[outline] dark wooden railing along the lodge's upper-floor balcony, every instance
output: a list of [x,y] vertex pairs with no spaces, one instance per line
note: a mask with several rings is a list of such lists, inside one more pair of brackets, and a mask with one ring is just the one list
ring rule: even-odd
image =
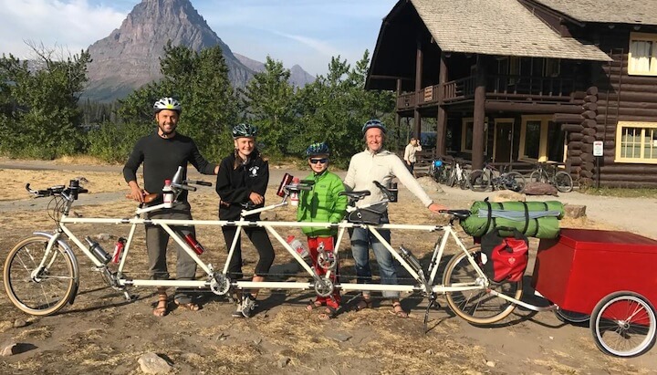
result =
[[[443,85],[443,103],[453,103],[474,98],[475,77],[454,79]],[[397,98],[397,109],[413,109],[427,104],[438,104],[440,85],[401,94]],[[487,76],[486,98],[489,99],[532,99],[565,101],[575,91],[572,78],[546,78],[529,76]]]

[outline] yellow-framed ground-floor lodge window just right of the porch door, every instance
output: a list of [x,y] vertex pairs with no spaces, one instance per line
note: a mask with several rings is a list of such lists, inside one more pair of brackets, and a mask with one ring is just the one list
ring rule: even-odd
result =
[[523,116],[520,128],[520,157],[529,161],[566,160],[566,133],[551,116]]

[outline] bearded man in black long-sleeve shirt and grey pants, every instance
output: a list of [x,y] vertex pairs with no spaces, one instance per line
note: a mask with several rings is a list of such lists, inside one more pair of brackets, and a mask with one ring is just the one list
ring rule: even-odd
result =
[[[182,108],[177,100],[160,99],[153,106],[158,130],[142,137],[135,145],[130,158],[123,168],[123,177],[130,185],[130,196],[135,201],[144,202],[148,193],[162,193],[164,180],[172,179],[178,167],[183,167],[183,176],[187,176],[187,164],[192,165],[203,174],[217,174],[219,166],[206,161],[198,151],[194,141],[176,132],[178,118]],[[137,182],[137,170],[143,163],[144,189]],[[162,203],[162,200],[154,203]],[[148,214],[149,219],[192,220],[190,204],[187,202],[187,192],[183,191],[171,209],[163,209]],[[172,227],[179,234],[194,235],[193,226]],[[158,225],[146,225],[146,248],[149,255],[149,270],[151,279],[166,280],[169,272],[166,265],[166,248],[169,234]],[[178,279],[192,280],[196,276],[196,263],[180,246],[178,249],[176,276]],[[192,297],[183,290],[176,290],[174,297],[179,307],[198,310],[192,302]],[[153,315],[162,317],[167,314],[166,289],[158,288],[158,305]]]

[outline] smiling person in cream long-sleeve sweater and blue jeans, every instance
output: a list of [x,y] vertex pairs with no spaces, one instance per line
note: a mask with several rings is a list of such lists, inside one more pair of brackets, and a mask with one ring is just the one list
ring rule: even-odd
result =
[[[440,210],[446,209],[443,205],[433,203],[432,199],[422,190],[422,186],[415,180],[411,172],[406,169],[403,161],[397,155],[383,150],[386,129],[380,120],[367,121],[362,131],[367,149],[351,157],[347,177],[344,181],[348,190],[370,191],[371,194],[360,200],[357,203],[358,206],[378,202],[383,198],[383,193],[373,181],[387,186],[388,182],[391,182],[393,178],[397,177],[433,213],[438,214]],[[381,222],[389,223],[387,211],[384,213]],[[380,230],[379,232],[390,243],[390,230]],[[364,228],[354,228],[351,234],[351,253],[356,263],[358,282],[369,282],[371,280],[370,245],[381,270],[381,284],[398,284],[397,270],[395,269],[392,255],[374,235]],[[398,317],[408,317],[408,313],[401,307],[399,292],[385,291],[383,292],[383,297],[391,298],[393,311]],[[362,293],[362,300],[356,308],[361,310],[370,306],[370,293],[364,291]]]

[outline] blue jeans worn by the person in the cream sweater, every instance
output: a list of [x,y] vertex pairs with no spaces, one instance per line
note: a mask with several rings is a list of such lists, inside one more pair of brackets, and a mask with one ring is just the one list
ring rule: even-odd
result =
[[[388,223],[388,215],[386,214],[381,223]],[[390,244],[391,233],[390,230],[379,230],[381,237],[383,237]],[[370,231],[363,228],[354,228],[351,233],[351,254],[353,255],[354,262],[356,263],[356,278],[358,283],[371,282],[371,269],[370,269],[370,245],[374,256],[376,257],[379,269],[381,272],[381,284],[397,285],[397,268],[394,265],[392,255],[385,248],[381,241]],[[363,295],[370,294],[363,291]],[[383,297],[386,298],[399,298],[399,292],[384,291]]]

